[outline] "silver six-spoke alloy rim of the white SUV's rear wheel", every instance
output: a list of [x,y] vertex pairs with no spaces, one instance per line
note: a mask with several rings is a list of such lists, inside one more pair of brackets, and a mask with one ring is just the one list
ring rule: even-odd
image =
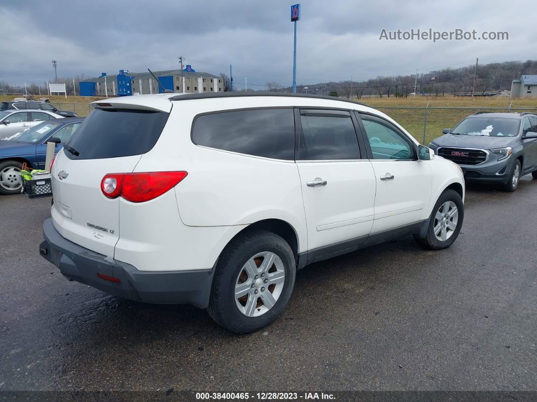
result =
[[264,251],[253,255],[235,282],[237,308],[248,317],[265,314],[278,301],[284,283],[284,263],[277,254]]

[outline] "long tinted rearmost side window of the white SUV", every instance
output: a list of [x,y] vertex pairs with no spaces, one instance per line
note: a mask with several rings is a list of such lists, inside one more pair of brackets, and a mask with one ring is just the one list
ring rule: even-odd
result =
[[198,145],[274,159],[294,159],[293,109],[256,109],[212,113],[194,122]]

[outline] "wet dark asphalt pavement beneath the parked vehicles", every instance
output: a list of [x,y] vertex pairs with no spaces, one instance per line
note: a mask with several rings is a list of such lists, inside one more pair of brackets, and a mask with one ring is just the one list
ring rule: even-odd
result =
[[0,196],[0,392],[537,390],[537,180],[465,207],[451,248],[308,266],[275,323],[235,335],[67,281],[38,253],[50,199]]

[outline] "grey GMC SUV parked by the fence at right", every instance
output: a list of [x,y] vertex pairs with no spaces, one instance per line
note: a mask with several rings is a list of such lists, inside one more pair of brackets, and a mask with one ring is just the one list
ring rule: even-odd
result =
[[537,179],[537,115],[479,112],[444,129],[429,147],[462,167],[466,181],[496,183],[515,191],[518,180]]

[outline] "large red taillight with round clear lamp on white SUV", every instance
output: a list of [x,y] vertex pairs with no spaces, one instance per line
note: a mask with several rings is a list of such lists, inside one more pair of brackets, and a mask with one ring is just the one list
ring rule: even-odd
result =
[[101,180],[101,191],[108,198],[122,196],[130,202],[153,200],[175,187],[188,172],[108,173]]

